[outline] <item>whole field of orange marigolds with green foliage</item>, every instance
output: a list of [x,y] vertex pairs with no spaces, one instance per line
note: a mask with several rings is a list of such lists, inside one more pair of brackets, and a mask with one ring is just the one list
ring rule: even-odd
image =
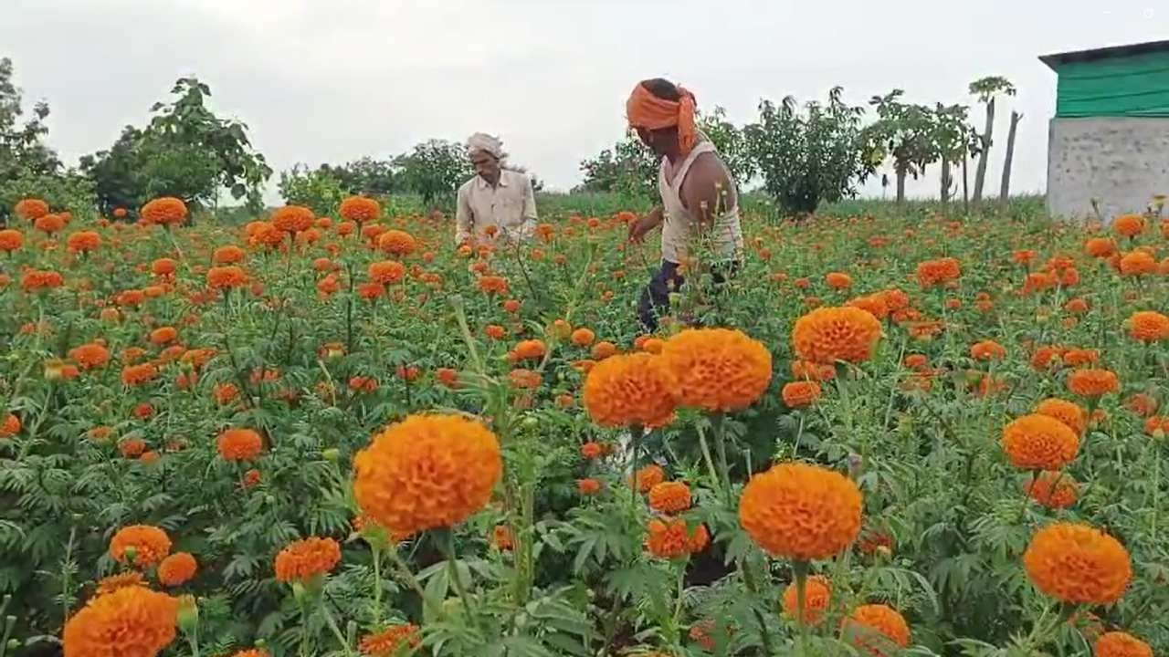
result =
[[116,214],[0,230],[0,657],[1169,651],[1160,206],[748,214],[655,336],[631,213]]

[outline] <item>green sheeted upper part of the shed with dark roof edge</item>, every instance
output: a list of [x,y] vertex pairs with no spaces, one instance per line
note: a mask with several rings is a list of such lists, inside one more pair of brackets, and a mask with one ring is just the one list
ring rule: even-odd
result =
[[1046,55],[1057,117],[1169,117],[1169,41]]

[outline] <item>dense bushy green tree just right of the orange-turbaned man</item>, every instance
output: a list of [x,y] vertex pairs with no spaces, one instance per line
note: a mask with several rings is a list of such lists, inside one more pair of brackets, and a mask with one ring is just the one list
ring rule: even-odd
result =
[[826,104],[809,102],[803,115],[790,96],[779,105],[762,101],[759,120],[742,130],[763,189],[787,212],[812,213],[821,201],[853,196],[876,170],[860,126],[864,109],[845,104],[842,94],[833,88]]

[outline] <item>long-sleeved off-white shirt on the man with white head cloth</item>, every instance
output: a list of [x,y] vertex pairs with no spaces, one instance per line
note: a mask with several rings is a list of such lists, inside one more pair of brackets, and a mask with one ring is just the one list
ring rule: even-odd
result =
[[494,226],[494,238],[527,240],[535,228],[535,194],[532,180],[517,171],[499,172],[499,185],[492,187],[476,175],[458,188],[455,213],[455,243],[468,240],[491,240],[487,227]]

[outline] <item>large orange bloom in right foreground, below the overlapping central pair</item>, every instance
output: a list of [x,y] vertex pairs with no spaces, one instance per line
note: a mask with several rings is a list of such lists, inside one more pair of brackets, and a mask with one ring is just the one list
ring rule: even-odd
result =
[[839,472],[781,463],[747,483],[739,523],[773,556],[826,559],[857,538],[860,503],[860,490]]

